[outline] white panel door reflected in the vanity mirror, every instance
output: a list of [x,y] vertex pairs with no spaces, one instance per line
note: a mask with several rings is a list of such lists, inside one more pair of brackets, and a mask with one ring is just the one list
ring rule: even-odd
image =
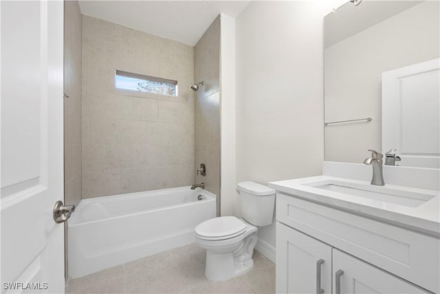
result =
[[382,151],[406,167],[440,168],[440,59],[382,74]]

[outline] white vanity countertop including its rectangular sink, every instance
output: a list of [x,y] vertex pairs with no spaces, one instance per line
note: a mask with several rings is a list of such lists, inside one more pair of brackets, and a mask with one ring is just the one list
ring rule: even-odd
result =
[[440,237],[438,190],[390,184],[377,186],[335,176],[281,180],[270,182],[269,187],[276,189],[276,193]]

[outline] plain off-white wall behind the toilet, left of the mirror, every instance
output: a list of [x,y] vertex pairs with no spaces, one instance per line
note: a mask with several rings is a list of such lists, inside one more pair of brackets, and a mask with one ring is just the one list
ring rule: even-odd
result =
[[[236,18],[237,182],[321,174],[322,22],[338,3],[252,1]],[[275,246],[274,224],[259,238]]]

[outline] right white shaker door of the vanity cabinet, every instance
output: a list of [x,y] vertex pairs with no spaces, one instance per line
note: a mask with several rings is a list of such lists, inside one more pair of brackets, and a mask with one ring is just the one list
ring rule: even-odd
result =
[[333,249],[333,293],[430,293],[382,269]]

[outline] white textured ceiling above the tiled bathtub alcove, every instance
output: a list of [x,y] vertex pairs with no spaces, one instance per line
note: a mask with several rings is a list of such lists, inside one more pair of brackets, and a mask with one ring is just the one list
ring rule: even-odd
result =
[[90,17],[195,45],[220,13],[236,17],[250,1],[83,1]]

